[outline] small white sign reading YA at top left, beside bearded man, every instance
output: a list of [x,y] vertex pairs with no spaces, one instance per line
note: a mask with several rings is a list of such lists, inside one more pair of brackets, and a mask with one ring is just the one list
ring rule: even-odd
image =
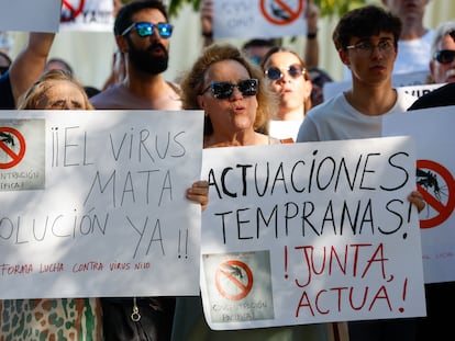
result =
[[62,31],[112,32],[113,23],[112,0],[63,0]]

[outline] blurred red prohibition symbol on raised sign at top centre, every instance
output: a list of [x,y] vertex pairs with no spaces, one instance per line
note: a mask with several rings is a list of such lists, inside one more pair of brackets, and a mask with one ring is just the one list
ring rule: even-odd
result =
[[260,0],[260,12],[264,18],[275,25],[288,25],[303,15],[304,0],[296,0],[297,9],[292,9],[285,0],[273,0],[267,8],[267,0]]

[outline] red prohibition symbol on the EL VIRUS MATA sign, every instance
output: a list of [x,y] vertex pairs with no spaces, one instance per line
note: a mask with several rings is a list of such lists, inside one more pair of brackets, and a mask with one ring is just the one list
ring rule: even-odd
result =
[[[15,151],[19,143],[19,152]],[[25,139],[20,132],[12,127],[0,127],[0,152],[7,154],[11,161],[0,163],[0,169],[16,166],[25,155]]]

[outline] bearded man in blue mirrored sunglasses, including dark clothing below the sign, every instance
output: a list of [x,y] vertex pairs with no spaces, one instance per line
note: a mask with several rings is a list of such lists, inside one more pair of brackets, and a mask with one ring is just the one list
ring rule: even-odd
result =
[[[164,79],[173,26],[159,0],[123,5],[114,23],[125,77],[90,102],[104,110],[180,110],[179,87]],[[106,340],[169,340],[175,297],[104,297]]]

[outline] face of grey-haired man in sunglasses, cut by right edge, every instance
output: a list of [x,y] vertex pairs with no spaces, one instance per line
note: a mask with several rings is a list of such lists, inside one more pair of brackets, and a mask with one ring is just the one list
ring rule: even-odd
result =
[[455,82],[455,42],[447,34],[437,44],[437,59],[430,61],[431,77],[436,83]]

